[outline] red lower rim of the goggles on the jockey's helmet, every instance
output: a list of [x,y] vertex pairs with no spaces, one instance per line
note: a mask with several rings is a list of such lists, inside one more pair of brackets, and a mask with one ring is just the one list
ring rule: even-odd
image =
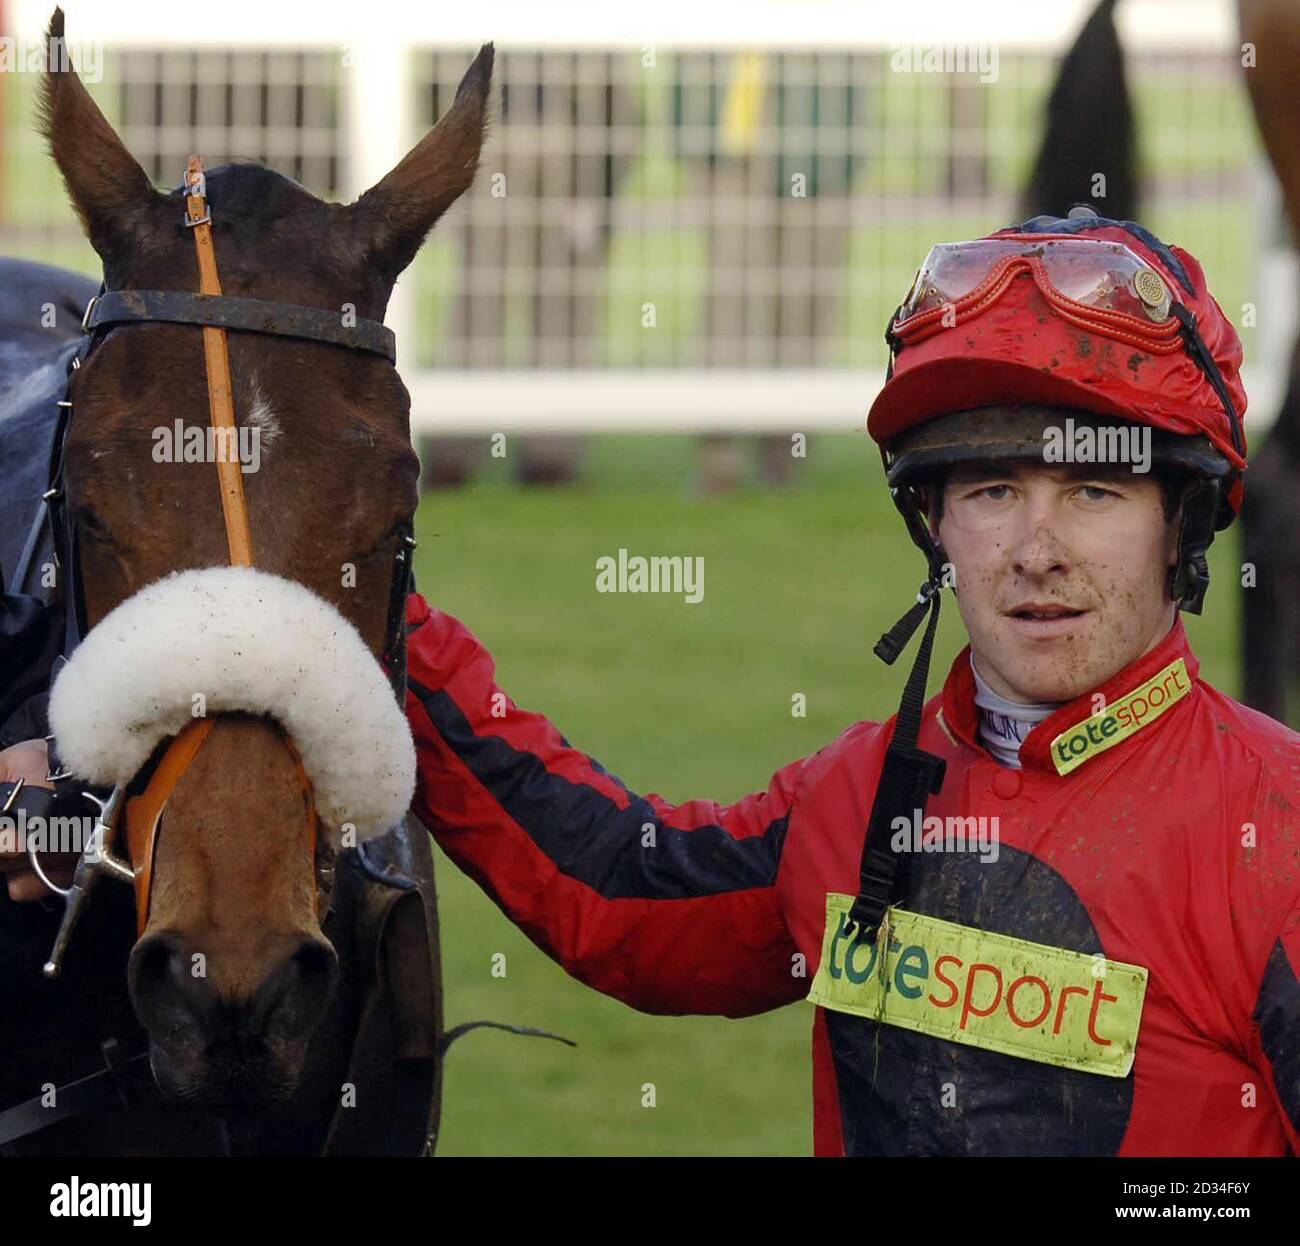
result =
[[[1170,315],[1160,324],[1144,324],[1136,316],[1127,312],[1110,311],[1105,307],[1093,307],[1089,303],[1080,303],[1078,299],[1062,294],[1048,274],[1041,258],[1036,255],[1008,255],[998,260],[988,276],[968,294],[959,299],[953,299],[940,307],[931,307],[928,311],[916,312],[906,320],[894,320],[889,326],[889,333],[900,343],[913,345],[923,342],[926,338],[950,329],[971,316],[978,316],[993,303],[996,303],[1017,277],[1028,273],[1043,297],[1052,304],[1056,313],[1080,329],[1095,333],[1105,333],[1139,350],[1150,351],[1156,355],[1173,354],[1182,350],[1182,325],[1178,317]],[[1173,295],[1171,295],[1173,298]],[[1173,298],[1176,302],[1176,298]]]

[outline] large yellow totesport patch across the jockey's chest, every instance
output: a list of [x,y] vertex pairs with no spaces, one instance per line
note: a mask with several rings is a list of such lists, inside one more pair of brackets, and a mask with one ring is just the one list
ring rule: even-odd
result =
[[1040,1064],[1128,1076],[1147,994],[1140,965],[897,908],[866,943],[850,934],[853,900],[826,897],[814,1004]]

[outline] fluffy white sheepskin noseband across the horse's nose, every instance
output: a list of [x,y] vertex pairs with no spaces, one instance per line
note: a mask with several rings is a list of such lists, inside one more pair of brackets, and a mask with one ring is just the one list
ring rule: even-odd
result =
[[281,723],[328,827],[367,839],[406,815],[415,745],[374,656],[324,598],[252,567],[179,571],[127,597],[58,672],[49,727],[74,774],[129,783],[198,693],[208,714]]

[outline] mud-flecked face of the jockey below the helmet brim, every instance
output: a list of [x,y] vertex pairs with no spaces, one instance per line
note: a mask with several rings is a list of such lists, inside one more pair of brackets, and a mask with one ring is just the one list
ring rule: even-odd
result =
[[1067,701],[1174,623],[1178,523],[1127,468],[987,464],[944,485],[942,541],[980,674],[1013,701]]

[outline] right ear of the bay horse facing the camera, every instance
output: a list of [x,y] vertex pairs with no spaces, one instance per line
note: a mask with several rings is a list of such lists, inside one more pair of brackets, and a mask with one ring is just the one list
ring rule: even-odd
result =
[[493,46],[485,43],[438,124],[347,208],[354,241],[393,280],[474,179],[488,125],[491,65]]

